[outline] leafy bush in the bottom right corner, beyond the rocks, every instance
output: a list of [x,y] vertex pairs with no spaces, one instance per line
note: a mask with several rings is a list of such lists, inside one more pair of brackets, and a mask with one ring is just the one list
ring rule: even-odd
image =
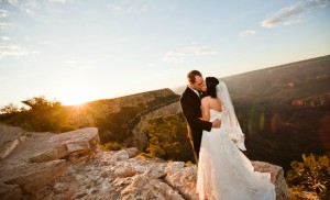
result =
[[323,156],[302,154],[302,162],[292,162],[292,170],[287,173],[289,187],[298,187],[327,196],[330,189],[329,153]]

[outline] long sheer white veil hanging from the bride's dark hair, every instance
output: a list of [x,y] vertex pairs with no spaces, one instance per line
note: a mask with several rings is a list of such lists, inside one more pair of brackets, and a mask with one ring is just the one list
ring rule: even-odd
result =
[[239,120],[237,118],[230,95],[223,81],[217,86],[217,97],[222,101],[222,120],[221,129],[226,129],[229,137],[242,151],[246,151],[244,145],[245,135],[242,132]]

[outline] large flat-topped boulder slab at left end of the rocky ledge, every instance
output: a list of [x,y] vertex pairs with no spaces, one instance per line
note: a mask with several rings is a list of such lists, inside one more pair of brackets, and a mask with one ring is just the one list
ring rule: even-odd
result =
[[[9,134],[10,127],[4,129],[1,136]],[[72,163],[95,153],[99,143],[96,127],[63,134],[26,135],[30,138],[16,145],[10,155],[0,160],[0,185],[3,186],[0,199],[37,197],[38,189],[58,178]]]

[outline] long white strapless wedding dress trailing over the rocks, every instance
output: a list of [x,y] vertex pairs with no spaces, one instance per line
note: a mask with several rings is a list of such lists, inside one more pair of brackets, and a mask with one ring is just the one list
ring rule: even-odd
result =
[[[210,121],[222,112],[210,110]],[[249,158],[230,138],[228,129],[204,131],[197,176],[200,200],[274,200],[271,174],[257,173]]]

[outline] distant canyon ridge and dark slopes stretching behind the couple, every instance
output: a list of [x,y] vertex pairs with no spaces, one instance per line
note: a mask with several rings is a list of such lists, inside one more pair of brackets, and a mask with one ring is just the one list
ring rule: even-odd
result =
[[[301,154],[330,151],[329,55],[219,79],[231,93],[250,159],[276,164],[287,170],[290,162],[300,159]],[[117,122],[117,131],[101,132],[101,142],[108,142],[109,135],[124,134],[128,146],[141,149],[145,137],[141,129],[146,119],[182,114],[179,97],[185,88],[67,107],[70,123],[77,127],[96,126],[99,120],[118,114],[124,122]]]

